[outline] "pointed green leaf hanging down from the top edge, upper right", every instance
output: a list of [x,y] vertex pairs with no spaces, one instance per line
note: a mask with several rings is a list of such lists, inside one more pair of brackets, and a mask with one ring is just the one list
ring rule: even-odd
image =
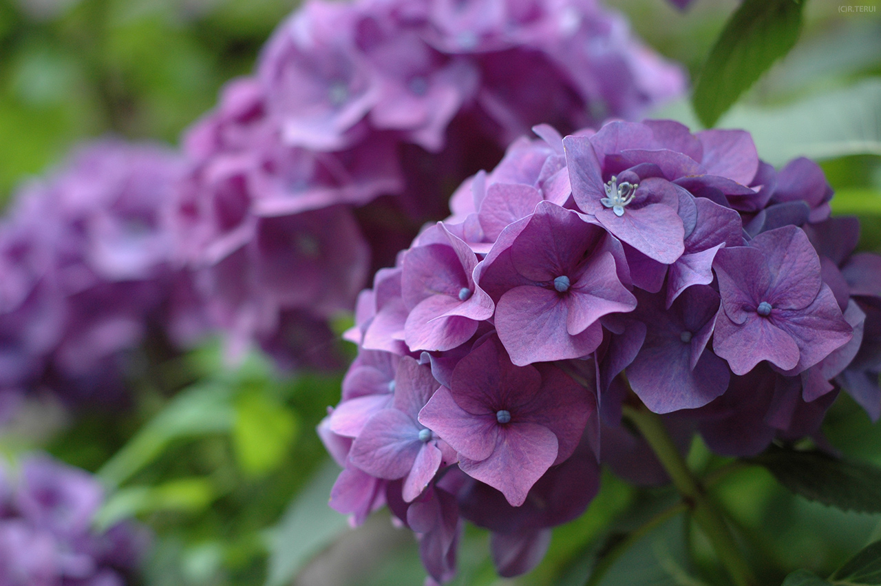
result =
[[771,64],[796,44],[802,27],[799,0],[744,0],[731,16],[694,88],[692,103],[711,127]]

